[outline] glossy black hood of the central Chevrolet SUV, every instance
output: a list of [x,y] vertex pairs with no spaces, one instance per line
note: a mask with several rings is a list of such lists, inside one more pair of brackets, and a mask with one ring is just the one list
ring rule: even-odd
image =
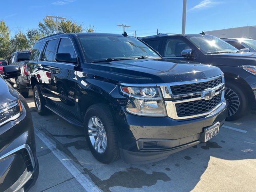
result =
[[[205,79],[222,74],[214,66],[163,59],[134,59],[92,64],[95,70],[105,71],[105,78],[123,83],[169,83]],[[106,73],[107,72],[107,73]]]

